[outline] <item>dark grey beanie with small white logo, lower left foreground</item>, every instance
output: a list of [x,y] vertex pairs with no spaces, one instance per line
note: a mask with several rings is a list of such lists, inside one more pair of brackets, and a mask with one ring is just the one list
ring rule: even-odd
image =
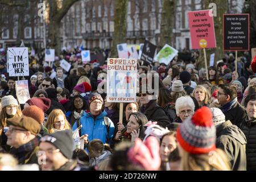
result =
[[67,158],[72,159],[73,156],[73,137],[71,130],[57,131],[47,134],[40,139],[40,142],[49,142]]

